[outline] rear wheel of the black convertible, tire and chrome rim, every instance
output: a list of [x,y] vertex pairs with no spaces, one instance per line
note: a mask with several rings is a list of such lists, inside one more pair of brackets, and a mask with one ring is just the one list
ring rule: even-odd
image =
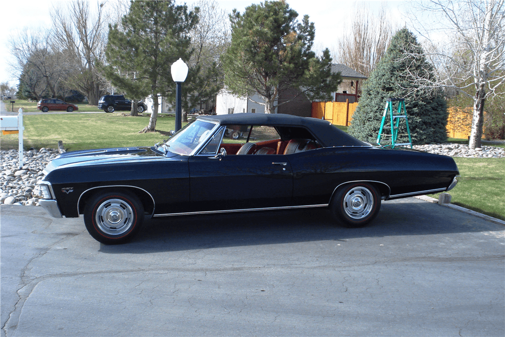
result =
[[367,182],[339,187],[330,204],[337,221],[346,227],[363,227],[379,213],[381,198],[377,188]]

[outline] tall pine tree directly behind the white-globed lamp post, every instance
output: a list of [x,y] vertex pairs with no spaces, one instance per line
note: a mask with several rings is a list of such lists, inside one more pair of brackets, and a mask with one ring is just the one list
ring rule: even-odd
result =
[[191,30],[198,22],[198,8],[169,1],[134,1],[120,25],[109,26],[109,40],[102,66],[105,77],[133,100],[153,98],[153,113],[143,132],[155,131],[158,98],[175,102],[171,66],[179,58],[188,64],[182,85],[184,109],[212,98],[222,87],[216,63],[203,69],[192,62]]

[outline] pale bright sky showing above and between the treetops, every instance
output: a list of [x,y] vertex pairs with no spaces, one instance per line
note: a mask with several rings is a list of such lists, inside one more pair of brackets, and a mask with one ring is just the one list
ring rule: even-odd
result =
[[[51,27],[51,10],[55,5],[67,0],[18,0],[8,1],[2,4],[2,22],[0,22],[0,82],[9,81],[11,85],[17,84],[17,73],[9,65],[13,58],[9,52],[9,40],[23,29],[40,29]],[[95,3],[95,0],[89,0]],[[219,7],[229,13],[237,9],[243,13],[244,9],[251,4],[258,4],[260,0],[216,0]],[[109,0],[113,5],[114,0]],[[380,2],[364,1],[372,11],[378,10]],[[178,1],[177,3],[183,3]],[[193,0],[186,0],[186,4],[192,5]],[[303,15],[309,15],[310,21],[316,26],[314,45],[323,49],[338,44],[341,37],[352,20],[352,10],[356,1],[340,0],[287,0],[289,6],[294,9],[300,19]],[[387,1],[386,5],[391,11],[391,16],[400,27],[406,24],[405,12],[408,10],[408,1]]]

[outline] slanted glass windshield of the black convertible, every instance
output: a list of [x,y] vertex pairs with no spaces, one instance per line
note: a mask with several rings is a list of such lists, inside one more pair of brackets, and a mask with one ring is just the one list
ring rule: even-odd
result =
[[202,120],[195,120],[186,124],[182,129],[174,134],[165,147],[168,151],[178,155],[189,156],[199,143],[205,141],[212,133],[212,129],[217,124]]

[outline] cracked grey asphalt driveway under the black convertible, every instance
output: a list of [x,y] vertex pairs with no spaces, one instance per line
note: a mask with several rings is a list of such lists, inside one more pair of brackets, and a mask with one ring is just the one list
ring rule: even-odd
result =
[[505,228],[415,198],[358,229],[320,210],[146,220],[121,246],[0,214],[0,337],[505,334]]

